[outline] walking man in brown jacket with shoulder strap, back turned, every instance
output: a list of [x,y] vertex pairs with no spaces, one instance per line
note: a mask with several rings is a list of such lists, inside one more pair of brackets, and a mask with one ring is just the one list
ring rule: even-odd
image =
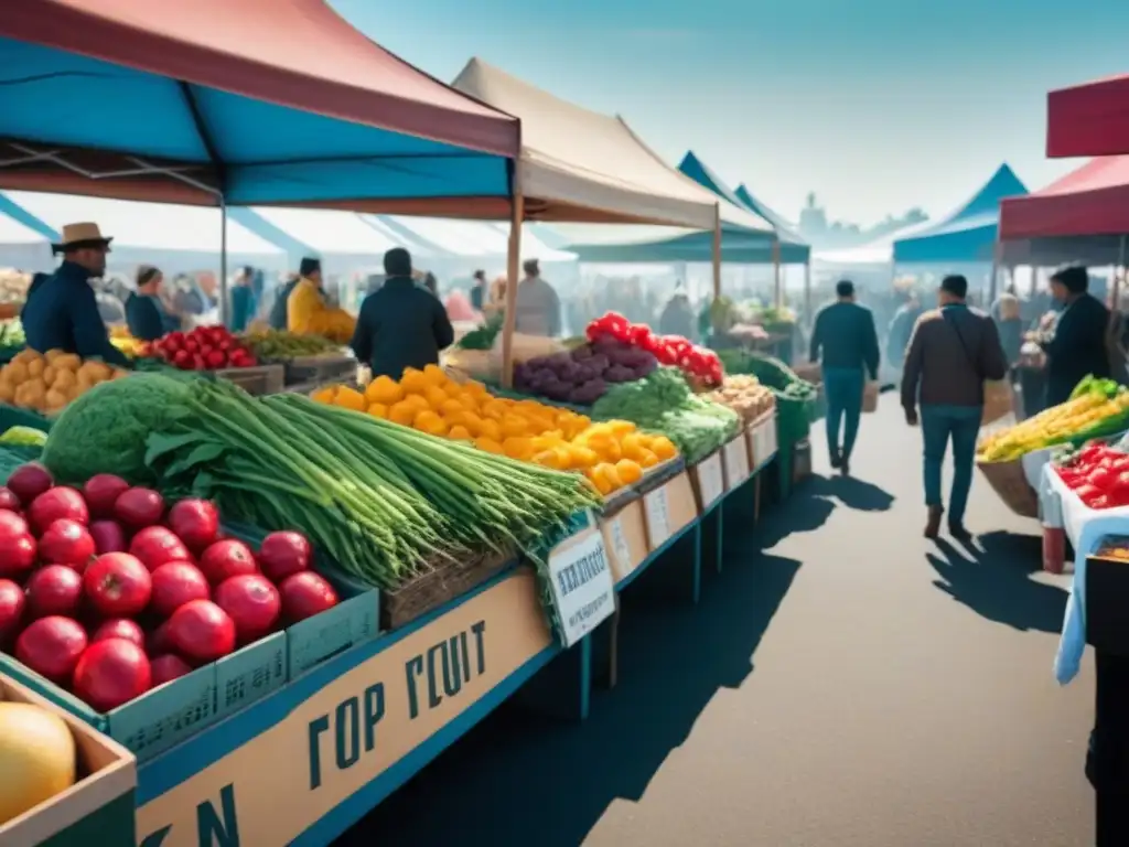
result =
[[[991,317],[965,303],[969,281],[961,276],[940,282],[940,307],[918,318],[902,370],[905,422],[921,424],[924,444],[925,535],[935,539],[945,513],[940,468],[953,442],[953,488],[948,496],[948,531],[965,540],[964,509],[972,488],[977,436],[983,414],[984,381],[1003,379],[1007,359]],[[920,407],[920,416],[918,408]]]

